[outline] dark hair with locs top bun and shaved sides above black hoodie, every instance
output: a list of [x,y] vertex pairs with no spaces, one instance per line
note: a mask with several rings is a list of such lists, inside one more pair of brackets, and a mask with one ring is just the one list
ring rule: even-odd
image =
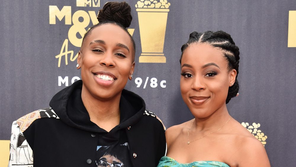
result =
[[133,43],[133,51],[134,54],[136,53],[136,44],[133,40],[133,37],[131,34],[129,34],[127,28],[131,25],[131,20],[133,19],[131,16],[131,6],[123,2],[107,2],[103,9],[99,11],[98,17],[97,17],[99,23],[92,26],[89,31],[87,31],[84,34],[84,37],[82,39],[82,43],[84,39],[91,34],[91,31],[101,25],[104,24],[114,24],[119,27],[121,27],[123,30],[125,30],[128,35],[131,38],[131,42]]

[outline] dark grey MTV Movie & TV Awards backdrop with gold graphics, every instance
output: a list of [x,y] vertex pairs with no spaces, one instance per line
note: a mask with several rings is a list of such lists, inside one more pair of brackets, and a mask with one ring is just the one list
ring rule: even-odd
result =
[[[55,93],[81,78],[82,36],[106,2],[1,1],[1,165],[8,163],[12,122],[48,107]],[[192,119],[180,93],[181,46],[193,31],[226,31],[241,53],[240,95],[227,104],[229,113],[265,145],[271,166],[295,166],[296,1],[126,2],[136,42],[126,89],[143,97],[167,128]],[[11,149],[24,154],[25,145],[18,145]]]

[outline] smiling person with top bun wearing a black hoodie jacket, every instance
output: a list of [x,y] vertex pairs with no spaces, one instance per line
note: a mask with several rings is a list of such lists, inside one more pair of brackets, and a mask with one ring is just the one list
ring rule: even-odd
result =
[[165,155],[163,124],[124,89],[135,67],[131,7],[108,2],[98,20],[78,53],[81,80],[13,123],[9,166],[151,167]]

